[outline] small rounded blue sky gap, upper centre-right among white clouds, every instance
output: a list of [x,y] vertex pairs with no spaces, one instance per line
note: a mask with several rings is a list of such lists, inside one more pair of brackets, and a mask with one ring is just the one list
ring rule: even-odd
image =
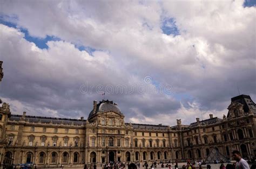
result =
[[161,30],[167,35],[173,34],[174,37],[179,35],[179,30],[174,18],[165,18],[161,26]]

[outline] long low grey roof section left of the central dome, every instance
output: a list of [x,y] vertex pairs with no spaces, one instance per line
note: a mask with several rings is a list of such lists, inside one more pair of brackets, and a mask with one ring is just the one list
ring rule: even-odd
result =
[[[11,115],[10,121],[21,121],[22,115]],[[25,116],[24,120],[30,123],[52,123],[52,124],[66,124],[66,125],[83,125],[86,120],[72,119],[72,118],[55,118],[55,117],[42,117],[42,116]]]

